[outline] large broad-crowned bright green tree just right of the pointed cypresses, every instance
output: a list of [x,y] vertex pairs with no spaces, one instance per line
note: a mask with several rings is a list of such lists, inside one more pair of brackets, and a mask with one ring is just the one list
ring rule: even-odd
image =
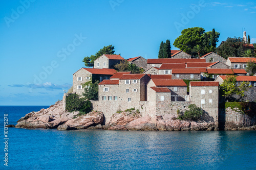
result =
[[201,45],[205,30],[200,27],[187,28],[182,30],[181,35],[175,39],[174,46],[191,54],[194,46]]

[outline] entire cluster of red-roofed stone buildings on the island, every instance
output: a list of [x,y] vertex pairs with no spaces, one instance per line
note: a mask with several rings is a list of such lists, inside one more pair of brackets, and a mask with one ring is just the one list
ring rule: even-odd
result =
[[[190,104],[201,107],[218,121],[219,83],[227,76],[236,75],[238,81],[249,81],[256,88],[256,77],[247,76],[245,71],[246,63],[256,62],[256,58],[226,60],[211,52],[196,59],[177,51],[168,59],[127,59],[143,67],[144,74],[113,69],[123,60],[120,55],[102,55],[94,61],[94,68],[80,68],[73,74],[73,93],[82,94],[82,84],[87,81],[100,81],[99,99],[92,103],[94,110],[104,113],[106,122],[113,113],[129,108],[140,111],[142,116],[177,117],[177,110],[185,112]],[[190,80],[189,84],[184,80]]]

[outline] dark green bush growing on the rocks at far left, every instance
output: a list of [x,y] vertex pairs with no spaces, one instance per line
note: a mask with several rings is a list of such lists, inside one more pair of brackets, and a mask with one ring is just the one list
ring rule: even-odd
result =
[[78,94],[69,94],[66,97],[66,110],[68,112],[79,111],[81,114],[89,113],[92,110],[92,103]]

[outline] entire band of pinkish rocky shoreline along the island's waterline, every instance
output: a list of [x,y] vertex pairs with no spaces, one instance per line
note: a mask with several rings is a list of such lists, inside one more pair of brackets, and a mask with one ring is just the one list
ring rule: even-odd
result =
[[[141,117],[136,110],[115,113],[108,124],[104,124],[102,112],[92,111],[86,115],[79,112],[65,112],[62,101],[56,102],[47,109],[30,112],[17,121],[15,128],[26,129],[103,129],[103,130],[129,130],[129,131],[217,131],[218,123],[214,122],[189,122],[177,119],[171,114],[157,116],[156,118]],[[256,130],[256,126],[243,127],[227,125],[225,130]]]

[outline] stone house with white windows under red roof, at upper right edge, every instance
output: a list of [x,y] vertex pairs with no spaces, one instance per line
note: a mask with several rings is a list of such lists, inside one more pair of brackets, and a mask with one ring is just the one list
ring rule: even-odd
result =
[[256,58],[253,57],[228,57],[226,65],[230,68],[245,69],[248,62],[256,63]]

